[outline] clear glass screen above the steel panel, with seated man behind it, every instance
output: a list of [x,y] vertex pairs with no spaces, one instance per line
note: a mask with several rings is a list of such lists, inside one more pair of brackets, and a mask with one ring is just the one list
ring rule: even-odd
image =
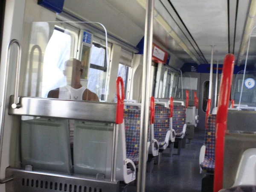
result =
[[[80,24],[80,25],[79,25]],[[23,96],[104,100],[107,48],[83,23],[34,22],[24,71]]]

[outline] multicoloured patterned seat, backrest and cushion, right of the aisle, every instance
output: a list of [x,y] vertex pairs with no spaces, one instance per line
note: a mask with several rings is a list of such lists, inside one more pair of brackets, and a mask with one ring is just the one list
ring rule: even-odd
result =
[[205,129],[204,145],[206,146],[204,162],[200,164],[201,169],[209,174],[214,173],[215,167],[215,121],[216,115],[209,115]]

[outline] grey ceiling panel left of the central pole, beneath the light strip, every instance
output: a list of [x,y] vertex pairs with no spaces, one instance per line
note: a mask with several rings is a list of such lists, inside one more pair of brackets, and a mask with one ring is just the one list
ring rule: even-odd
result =
[[[64,7],[89,21],[102,23],[109,32],[134,46],[144,36],[144,30],[137,23],[105,0],[65,0]],[[134,6],[134,9],[145,15],[141,6]]]

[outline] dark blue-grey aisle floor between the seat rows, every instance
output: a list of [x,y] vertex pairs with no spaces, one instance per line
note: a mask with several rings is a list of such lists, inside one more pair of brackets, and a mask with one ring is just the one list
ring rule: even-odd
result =
[[[180,156],[163,155],[160,165],[154,165],[153,172],[147,173],[146,192],[201,192],[199,154],[203,143],[204,131],[195,130],[195,138],[181,149]],[[168,152],[169,148],[165,153]],[[128,192],[136,192],[136,186],[128,186]]]

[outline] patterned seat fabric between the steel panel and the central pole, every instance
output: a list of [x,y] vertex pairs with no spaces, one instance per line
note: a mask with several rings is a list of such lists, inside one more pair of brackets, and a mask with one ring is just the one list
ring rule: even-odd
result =
[[140,148],[140,110],[124,110],[126,156],[135,165],[139,163]]

